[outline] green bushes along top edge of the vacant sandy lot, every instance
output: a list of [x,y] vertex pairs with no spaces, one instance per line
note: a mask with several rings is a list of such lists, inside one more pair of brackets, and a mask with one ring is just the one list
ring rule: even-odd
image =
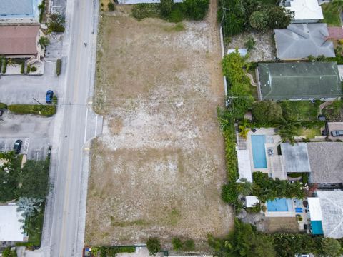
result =
[[182,3],[162,0],[161,4],[136,4],[132,8],[132,15],[139,21],[144,18],[161,18],[177,23],[185,18],[202,20],[208,9],[209,0],[184,0]]

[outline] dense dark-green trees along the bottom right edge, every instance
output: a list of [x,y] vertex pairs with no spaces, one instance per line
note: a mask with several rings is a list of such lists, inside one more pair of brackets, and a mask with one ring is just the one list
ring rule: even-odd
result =
[[234,231],[225,238],[209,235],[208,243],[214,250],[214,256],[294,257],[300,253],[313,253],[314,256],[342,254],[342,241],[334,238],[307,233],[266,234],[238,219],[235,219],[234,224]]

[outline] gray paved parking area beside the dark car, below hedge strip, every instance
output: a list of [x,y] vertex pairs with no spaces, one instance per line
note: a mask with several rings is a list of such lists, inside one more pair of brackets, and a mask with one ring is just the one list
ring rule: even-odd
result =
[[14,115],[6,111],[0,121],[0,151],[11,151],[14,142],[21,139],[21,154],[35,160],[46,158],[53,124],[53,117]]

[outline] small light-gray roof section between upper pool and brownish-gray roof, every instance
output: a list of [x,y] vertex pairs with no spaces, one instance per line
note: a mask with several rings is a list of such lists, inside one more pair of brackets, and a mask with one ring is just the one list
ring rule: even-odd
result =
[[309,154],[306,143],[281,144],[281,154],[284,159],[284,171],[286,172],[310,172]]

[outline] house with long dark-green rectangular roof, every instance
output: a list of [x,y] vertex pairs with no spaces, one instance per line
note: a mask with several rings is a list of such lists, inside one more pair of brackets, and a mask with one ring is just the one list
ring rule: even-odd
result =
[[342,96],[336,62],[259,64],[259,100],[332,100]]

